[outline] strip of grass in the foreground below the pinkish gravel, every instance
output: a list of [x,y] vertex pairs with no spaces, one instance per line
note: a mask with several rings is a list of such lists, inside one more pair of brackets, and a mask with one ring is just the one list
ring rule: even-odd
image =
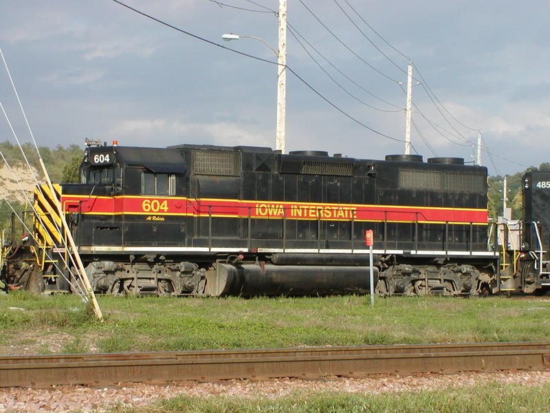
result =
[[488,383],[397,393],[298,392],[278,399],[180,396],[150,407],[115,407],[113,413],[527,413],[550,411],[550,385]]

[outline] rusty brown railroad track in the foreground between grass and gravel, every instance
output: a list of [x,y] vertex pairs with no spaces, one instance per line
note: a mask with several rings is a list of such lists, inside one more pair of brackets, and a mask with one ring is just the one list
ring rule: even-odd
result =
[[0,356],[0,387],[550,368],[550,341]]

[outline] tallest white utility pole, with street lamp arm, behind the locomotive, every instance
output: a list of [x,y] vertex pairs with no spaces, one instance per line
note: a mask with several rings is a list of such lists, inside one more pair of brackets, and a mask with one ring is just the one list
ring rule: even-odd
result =
[[285,153],[285,112],[287,93],[287,0],[279,0],[279,43],[277,53],[277,131],[276,149]]

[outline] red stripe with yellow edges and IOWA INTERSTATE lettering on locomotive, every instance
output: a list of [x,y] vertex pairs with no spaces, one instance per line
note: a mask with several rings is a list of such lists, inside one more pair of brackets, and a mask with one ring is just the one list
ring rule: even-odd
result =
[[390,205],[314,204],[188,198],[62,197],[66,212],[90,214],[192,215],[290,220],[356,220],[390,222],[453,222],[487,224],[486,209],[394,207]]

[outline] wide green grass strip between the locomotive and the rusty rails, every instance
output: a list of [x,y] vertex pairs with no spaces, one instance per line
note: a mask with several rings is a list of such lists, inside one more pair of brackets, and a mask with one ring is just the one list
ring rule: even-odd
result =
[[[3,348],[126,352],[550,340],[550,301],[505,297],[0,297]],[[25,350],[27,349],[27,350]]]

